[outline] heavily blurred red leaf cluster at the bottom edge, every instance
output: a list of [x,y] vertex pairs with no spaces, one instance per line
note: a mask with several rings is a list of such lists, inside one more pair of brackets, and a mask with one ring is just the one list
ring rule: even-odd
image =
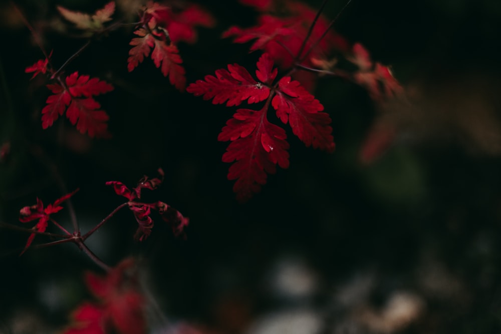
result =
[[146,333],[144,297],[129,258],[106,276],[88,272],[86,285],[99,302],[84,302],[73,313],[74,324],[64,334],[143,334]]

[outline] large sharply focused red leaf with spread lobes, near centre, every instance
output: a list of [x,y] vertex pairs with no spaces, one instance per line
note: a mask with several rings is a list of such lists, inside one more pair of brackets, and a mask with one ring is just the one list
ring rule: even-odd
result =
[[273,85],[277,69],[273,68],[269,54],[263,54],[257,64],[256,81],[245,68],[228,65],[228,71],[217,70],[216,76],[206,76],[186,89],[213,104],[226,102],[237,106],[243,101],[257,103],[267,100],[261,110],[238,109],[226,122],[217,137],[219,141],[231,141],[222,156],[224,162],[234,162],[228,172],[229,180],[236,180],[233,190],[244,201],[258,192],[266,183],[267,174],[276,172],[276,165],[289,167],[289,144],[284,129],[267,119],[269,105],[277,116],[289,123],[293,133],[307,146],[327,151],[334,150],[331,119],[322,112],[324,107],[313,95],[301,87],[298,81],[284,77]]

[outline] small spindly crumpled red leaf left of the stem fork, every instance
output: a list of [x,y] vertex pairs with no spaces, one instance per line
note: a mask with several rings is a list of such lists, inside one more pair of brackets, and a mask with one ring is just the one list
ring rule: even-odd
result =
[[[30,221],[38,219],[38,222],[33,227],[33,230],[37,232],[45,232],[48,226],[50,215],[61,211],[63,207],[60,204],[73,196],[77,191],[78,189],[58,198],[54,201],[53,204],[49,204],[46,208],[44,208],[44,203],[37,197],[36,205],[25,206],[19,211],[19,221],[21,221],[22,223],[28,223]],[[23,249],[21,254],[23,254],[28,249],[28,247],[30,247],[33,240],[35,239],[35,235],[36,233],[30,234],[25,248]]]

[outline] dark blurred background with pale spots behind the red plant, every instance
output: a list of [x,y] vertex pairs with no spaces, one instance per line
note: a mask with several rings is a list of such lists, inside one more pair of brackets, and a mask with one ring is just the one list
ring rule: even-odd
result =
[[[16,1],[62,64],[85,40],[56,6],[92,12],[105,2]],[[318,8],[320,1],[309,1]],[[122,1],[124,6],[125,1]],[[226,64],[252,70],[259,53],[220,39],[256,13],[236,2],[200,2],[217,21],[180,44],[188,83]],[[343,2],[328,3],[334,18]],[[391,65],[409,104],[381,109],[367,92],[321,79],[315,96],[333,120],[336,151],[305,148],[288,130],[291,166],[240,204],[217,135],[234,108],[179,93],[150,60],[126,68],[131,30],[96,41],[68,71],[115,86],[99,97],[110,140],[80,135],[63,118],[47,130],[49,91],[24,69],[43,57],[11,4],[0,6],[0,221],[68,191],[82,229],[122,203],[109,180],[134,186],[166,173],[150,193],[190,218],[187,240],[157,219],[135,243],[123,210],[93,235],[104,261],[135,256],[148,292],[151,332],[494,333],[501,330],[501,3],[493,0],[354,0],[335,26],[372,59]],[[396,136],[370,163],[360,152],[374,124]],[[68,211],[57,215],[70,226]],[[73,244],[19,253],[27,235],[0,229],[0,332],[52,333],[90,298]],[[36,242],[48,239],[37,237]]]

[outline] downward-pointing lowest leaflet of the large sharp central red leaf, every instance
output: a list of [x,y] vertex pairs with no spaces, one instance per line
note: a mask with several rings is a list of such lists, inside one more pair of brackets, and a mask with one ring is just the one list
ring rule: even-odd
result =
[[268,122],[263,109],[238,109],[226,122],[217,139],[232,141],[222,161],[235,161],[229,168],[228,179],[236,180],[233,191],[238,200],[245,201],[259,192],[266,183],[267,173],[274,174],[277,164],[289,167],[286,138],[284,129]]

